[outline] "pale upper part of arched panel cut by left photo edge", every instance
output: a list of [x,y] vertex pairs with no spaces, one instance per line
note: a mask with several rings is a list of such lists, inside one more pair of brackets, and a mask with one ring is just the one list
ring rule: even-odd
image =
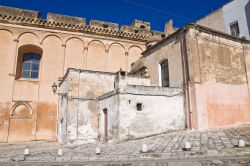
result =
[[12,32],[0,29],[0,101],[11,101],[16,43]]

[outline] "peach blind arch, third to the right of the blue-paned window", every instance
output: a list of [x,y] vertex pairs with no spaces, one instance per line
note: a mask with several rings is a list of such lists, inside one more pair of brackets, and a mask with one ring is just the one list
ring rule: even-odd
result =
[[100,41],[91,41],[88,45],[87,68],[93,71],[105,71],[105,46]]

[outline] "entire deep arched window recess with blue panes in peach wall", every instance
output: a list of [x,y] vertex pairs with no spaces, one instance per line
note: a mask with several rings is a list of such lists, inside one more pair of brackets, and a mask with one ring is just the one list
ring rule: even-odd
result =
[[42,49],[35,45],[24,45],[18,49],[16,79],[38,79]]

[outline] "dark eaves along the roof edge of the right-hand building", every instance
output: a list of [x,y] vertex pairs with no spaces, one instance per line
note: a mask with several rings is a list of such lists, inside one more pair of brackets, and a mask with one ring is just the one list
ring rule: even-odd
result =
[[199,24],[190,23],[190,24],[187,24],[186,26],[178,29],[174,33],[170,34],[169,36],[163,38],[161,41],[159,41],[155,45],[151,46],[150,48],[146,49],[144,52],[142,52],[142,55],[145,55],[147,52],[149,52],[152,49],[158,47],[159,45],[161,45],[162,43],[164,43],[168,39],[172,38],[173,36],[175,36],[175,35],[177,35],[177,34],[179,34],[181,32],[184,32],[184,31],[186,31],[187,29],[190,29],[190,28],[194,28],[194,29],[197,29],[197,30],[203,31],[203,32],[210,32],[210,33],[213,33],[213,34],[216,34],[216,35],[219,35],[219,36],[223,36],[224,38],[229,38],[230,40],[234,40],[236,42],[248,43],[248,44],[250,43],[250,40],[247,40],[245,38],[235,37],[235,36],[232,36],[232,35],[227,34],[225,32],[221,32],[221,31],[218,31],[218,30],[215,30],[215,29],[212,29],[212,28],[208,28],[208,27],[199,25]]

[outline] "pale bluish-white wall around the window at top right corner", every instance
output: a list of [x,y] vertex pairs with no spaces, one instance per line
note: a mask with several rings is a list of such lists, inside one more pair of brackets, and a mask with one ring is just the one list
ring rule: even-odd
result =
[[[226,4],[222,8],[223,18],[225,22],[225,31],[229,34],[230,28],[229,25],[235,21],[238,21],[240,28],[240,36],[245,36],[249,39],[249,28],[248,28],[248,19],[250,19],[250,11],[246,10],[246,6],[249,3],[249,0],[234,0]],[[246,12],[247,11],[247,12]]]

